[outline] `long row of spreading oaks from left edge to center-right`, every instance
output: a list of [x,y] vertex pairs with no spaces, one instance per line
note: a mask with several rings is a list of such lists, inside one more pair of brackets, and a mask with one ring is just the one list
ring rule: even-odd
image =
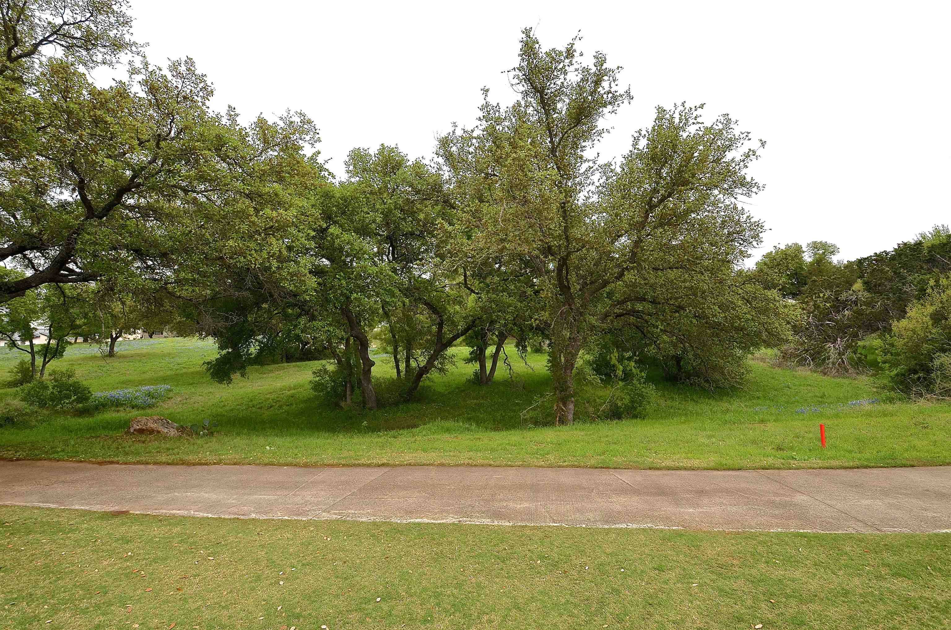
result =
[[[764,229],[741,205],[761,188],[748,169],[762,143],[676,105],[599,162],[631,91],[577,38],[543,49],[525,30],[512,105],[484,91],[476,125],[432,159],[356,148],[337,178],[305,115],[243,125],[211,110],[190,60],[146,61],[126,10],[0,0],[4,312],[58,295],[112,349],[149,318],[186,323],[217,342],[207,368],[224,383],[276,358],[330,359],[318,388],[371,409],[375,349],[397,374],[384,389],[406,400],[456,343],[479,384],[509,364],[507,340],[543,344],[557,423],[574,420],[586,355],[714,387],[789,337],[791,289],[744,267]],[[88,76],[120,62],[126,80]]]

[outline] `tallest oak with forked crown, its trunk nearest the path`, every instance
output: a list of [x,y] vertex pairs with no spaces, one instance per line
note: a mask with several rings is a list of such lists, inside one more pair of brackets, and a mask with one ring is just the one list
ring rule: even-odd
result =
[[503,108],[486,92],[476,128],[439,144],[465,202],[468,257],[532,278],[559,423],[573,422],[578,353],[599,335],[627,330],[658,358],[692,353],[696,378],[714,384],[737,370],[704,370],[713,342],[702,342],[739,357],[782,341],[791,315],[739,270],[764,229],[739,203],[760,189],[748,168],[762,143],[728,115],[660,107],[616,165],[598,164],[603,121],[631,90],[603,53],[584,63],[577,42],[543,49],[524,30],[517,101]]

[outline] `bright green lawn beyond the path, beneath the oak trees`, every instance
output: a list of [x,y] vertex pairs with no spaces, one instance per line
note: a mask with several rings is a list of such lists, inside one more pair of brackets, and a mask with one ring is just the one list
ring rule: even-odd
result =
[[[792,468],[951,463],[951,405],[854,404],[880,396],[866,378],[837,379],[753,361],[747,384],[708,393],[655,380],[647,418],[534,426],[522,412],[550,387],[545,357],[531,369],[510,352],[514,378],[468,382],[465,348],[420,400],[381,409],[320,403],[308,381],[316,363],[249,370],[234,384],[210,381],[202,363],[214,345],[196,339],[123,342],[114,359],[91,345],[70,347],[54,366],[73,367],[94,391],[168,384],[172,396],[144,410],[57,415],[0,427],[0,457],[140,463],[476,464],[631,468]],[[0,348],[6,372],[21,353]],[[375,373],[393,374],[377,358]],[[501,369],[499,370],[502,371]],[[591,392],[589,392],[591,393]],[[0,403],[15,391],[0,389]],[[551,401],[542,404],[551,404]],[[583,401],[580,405],[585,404]],[[123,435],[137,415],[218,423],[210,438]],[[819,444],[825,423],[828,447]]]

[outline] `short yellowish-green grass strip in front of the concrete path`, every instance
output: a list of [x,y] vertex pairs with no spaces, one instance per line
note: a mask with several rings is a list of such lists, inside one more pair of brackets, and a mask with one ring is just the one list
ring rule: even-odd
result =
[[951,536],[942,534],[242,521],[22,507],[0,507],[0,519],[3,627],[951,623]]

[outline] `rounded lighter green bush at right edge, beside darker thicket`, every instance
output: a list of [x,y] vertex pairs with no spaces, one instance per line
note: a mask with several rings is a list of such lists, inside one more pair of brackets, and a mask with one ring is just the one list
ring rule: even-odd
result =
[[951,400],[951,275],[908,307],[876,349],[883,378],[908,396]]

